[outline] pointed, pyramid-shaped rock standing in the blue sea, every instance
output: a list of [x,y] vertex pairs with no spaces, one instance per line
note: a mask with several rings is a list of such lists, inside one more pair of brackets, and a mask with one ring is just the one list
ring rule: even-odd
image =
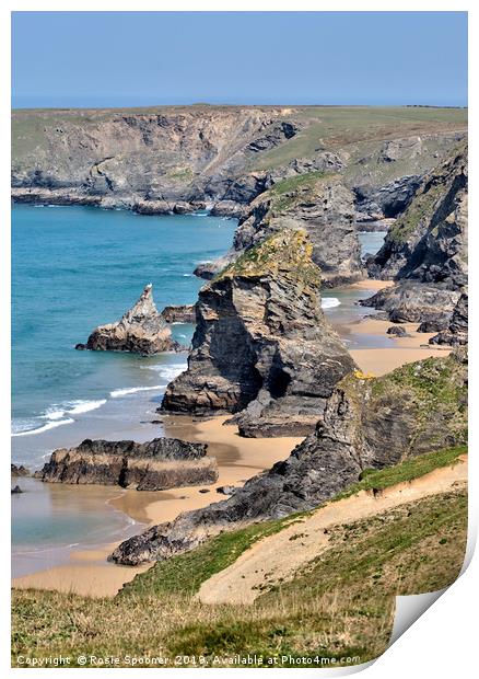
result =
[[180,345],[172,340],[172,331],[156,310],[151,284],[119,321],[98,325],[86,344],[75,346],[75,349],[92,352],[132,352],[142,355],[176,352],[180,348]]

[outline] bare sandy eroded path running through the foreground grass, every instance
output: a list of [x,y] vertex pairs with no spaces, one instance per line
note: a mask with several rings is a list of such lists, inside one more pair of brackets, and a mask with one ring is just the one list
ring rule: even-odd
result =
[[254,544],[234,564],[206,580],[197,597],[203,603],[252,603],[266,580],[288,579],[300,566],[328,548],[329,536],[325,529],[445,493],[466,482],[467,456],[462,456],[459,462],[452,467],[434,470],[376,495],[371,491],[361,491],[330,503],[312,516],[295,520],[281,532]]

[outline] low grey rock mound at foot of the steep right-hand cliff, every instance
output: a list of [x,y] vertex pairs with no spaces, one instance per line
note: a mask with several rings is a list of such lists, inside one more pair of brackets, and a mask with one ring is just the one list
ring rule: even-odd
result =
[[456,290],[406,280],[392,288],[383,288],[359,303],[386,312],[388,320],[394,323],[437,323],[447,322],[458,299],[459,292]]

